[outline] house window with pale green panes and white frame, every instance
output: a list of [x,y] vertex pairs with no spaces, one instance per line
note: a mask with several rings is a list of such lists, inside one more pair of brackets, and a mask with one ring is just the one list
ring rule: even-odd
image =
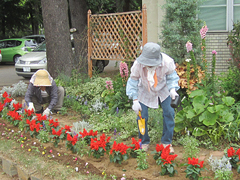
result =
[[209,31],[231,31],[233,22],[240,20],[240,0],[207,0],[200,6],[199,19]]

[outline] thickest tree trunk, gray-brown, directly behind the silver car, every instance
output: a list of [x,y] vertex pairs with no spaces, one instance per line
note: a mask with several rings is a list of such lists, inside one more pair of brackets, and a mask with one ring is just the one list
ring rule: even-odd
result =
[[69,32],[67,0],[41,0],[47,43],[48,71],[53,78],[71,76],[73,52]]

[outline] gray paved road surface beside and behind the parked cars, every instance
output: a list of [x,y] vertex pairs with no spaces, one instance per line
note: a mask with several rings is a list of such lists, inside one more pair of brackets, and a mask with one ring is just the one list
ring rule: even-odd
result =
[[[104,71],[117,70],[118,66],[115,67],[115,64],[116,61],[110,61],[108,66],[105,67]],[[13,64],[0,64],[0,88],[3,86],[11,86],[19,81],[28,83],[29,79],[18,76]]]

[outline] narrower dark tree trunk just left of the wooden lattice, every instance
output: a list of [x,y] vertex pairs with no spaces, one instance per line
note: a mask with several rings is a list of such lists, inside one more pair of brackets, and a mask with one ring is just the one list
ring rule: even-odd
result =
[[81,72],[87,72],[87,3],[86,0],[69,0],[71,14],[71,28],[76,28],[73,32],[75,67],[79,67]]

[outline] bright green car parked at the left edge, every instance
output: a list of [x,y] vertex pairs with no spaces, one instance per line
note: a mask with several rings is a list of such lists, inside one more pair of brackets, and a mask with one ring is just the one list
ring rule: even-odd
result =
[[3,39],[0,40],[2,62],[16,63],[18,58],[31,52],[37,46],[34,39]]

